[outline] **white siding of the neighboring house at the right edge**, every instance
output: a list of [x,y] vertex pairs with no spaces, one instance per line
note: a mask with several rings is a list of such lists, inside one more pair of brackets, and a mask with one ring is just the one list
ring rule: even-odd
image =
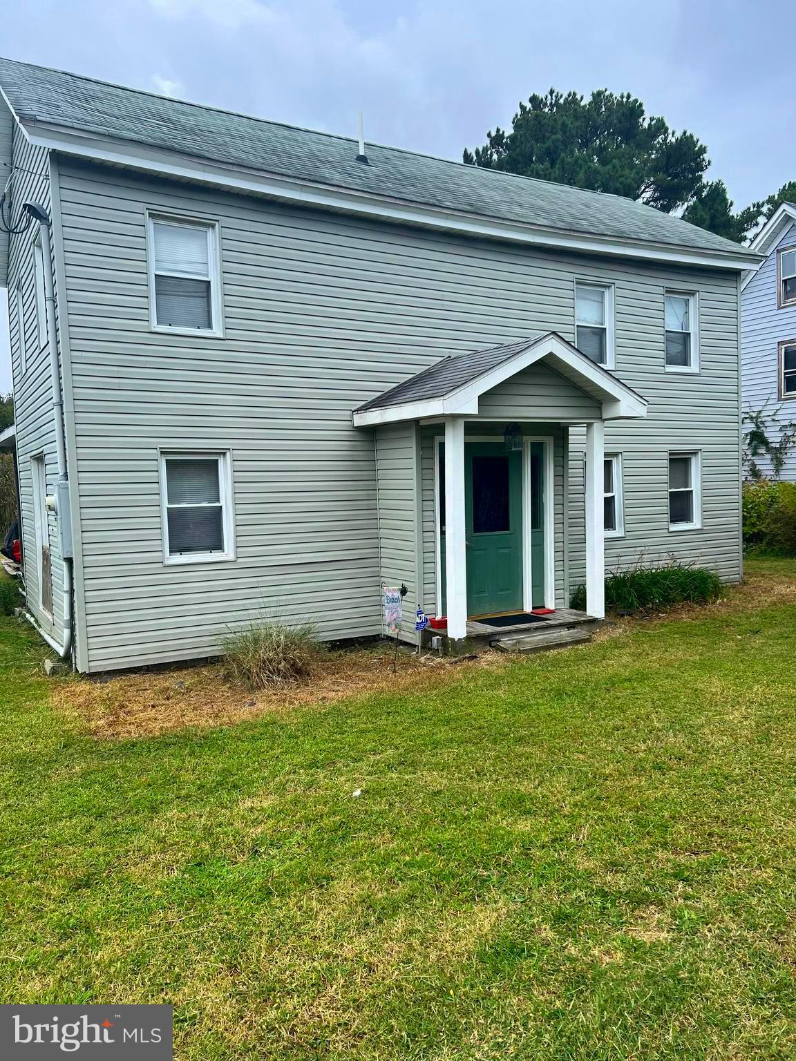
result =
[[[768,435],[776,441],[782,425],[796,420],[796,400],[779,399],[778,345],[796,342],[796,306],[777,307],[777,250],[796,244],[796,224],[792,224],[772,249],[760,269],[744,288],[741,296],[741,367],[744,410],[766,407],[772,421]],[[765,457],[758,465],[771,472]],[[782,479],[796,480],[796,451],[791,450],[782,469]]]

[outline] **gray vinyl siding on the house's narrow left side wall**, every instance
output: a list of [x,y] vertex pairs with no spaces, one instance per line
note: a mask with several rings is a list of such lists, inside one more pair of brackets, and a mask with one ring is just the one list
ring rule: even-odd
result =
[[[15,170],[14,220],[19,216],[22,203],[33,201],[50,209],[49,158],[46,151],[32,146],[15,125],[13,136]],[[50,351],[44,336],[39,348],[36,329],[36,297],[33,272],[32,225],[27,232],[10,238],[8,251],[8,324],[11,332],[11,359],[14,379],[14,415],[17,429],[17,459],[19,466],[19,495],[21,508],[22,552],[28,607],[32,614],[56,641],[63,640],[64,569],[60,561],[58,529],[55,517],[48,514],[50,557],[52,564],[53,614],[50,619],[39,607],[39,564],[33,504],[33,477],[31,458],[42,454],[47,476],[47,491],[54,492],[57,479],[55,454],[55,428],[50,382]],[[27,338],[25,372],[22,375],[20,331],[17,317],[16,288],[22,281],[24,306],[24,334]],[[54,281],[53,281],[54,282]],[[57,295],[57,293],[56,293]]]

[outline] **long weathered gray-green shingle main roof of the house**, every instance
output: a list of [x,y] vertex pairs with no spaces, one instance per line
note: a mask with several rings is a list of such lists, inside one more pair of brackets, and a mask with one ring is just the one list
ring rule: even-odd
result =
[[481,170],[397,147],[153,95],[47,67],[0,59],[0,86],[22,121],[184,152],[227,164],[507,222],[692,250],[746,248],[618,195]]

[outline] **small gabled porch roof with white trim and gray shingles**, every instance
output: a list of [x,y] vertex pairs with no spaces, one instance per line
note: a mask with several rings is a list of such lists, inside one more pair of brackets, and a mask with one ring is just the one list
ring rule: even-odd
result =
[[[530,365],[543,362],[602,403],[603,419],[642,418],[646,400],[557,332],[444,358],[353,411],[364,428],[439,416],[477,416],[479,398]],[[575,418],[573,418],[575,419]]]

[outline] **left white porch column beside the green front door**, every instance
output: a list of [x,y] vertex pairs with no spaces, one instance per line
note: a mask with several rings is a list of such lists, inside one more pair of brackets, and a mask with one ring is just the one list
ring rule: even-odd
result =
[[465,540],[464,418],[445,421],[445,586],[448,637],[467,637],[467,542]]

